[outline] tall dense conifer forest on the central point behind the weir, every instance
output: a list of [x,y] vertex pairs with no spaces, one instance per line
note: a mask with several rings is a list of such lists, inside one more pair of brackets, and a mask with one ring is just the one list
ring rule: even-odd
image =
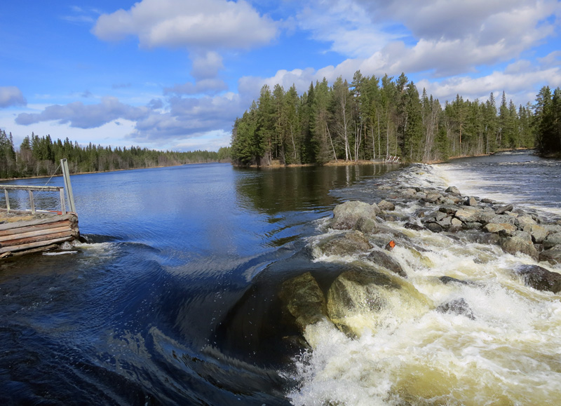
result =
[[457,95],[442,106],[401,74],[397,79],[339,77],[311,83],[298,95],[265,85],[259,100],[236,119],[231,157],[239,165],[282,165],[358,161],[400,156],[432,162],[450,156],[489,154],[498,149],[534,147],[531,104],[516,107],[503,92],[485,102]]

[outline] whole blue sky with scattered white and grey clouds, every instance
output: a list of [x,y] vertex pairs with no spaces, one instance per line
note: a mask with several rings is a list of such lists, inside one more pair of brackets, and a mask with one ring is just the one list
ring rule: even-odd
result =
[[402,72],[442,104],[561,86],[555,0],[1,1],[0,128],[217,151],[277,83]]

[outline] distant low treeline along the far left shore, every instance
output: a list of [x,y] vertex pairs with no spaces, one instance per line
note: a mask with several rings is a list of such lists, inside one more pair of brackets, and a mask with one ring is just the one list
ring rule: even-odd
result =
[[53,175],[60,159],[67,158],[71,173],[103,172],[156,166],[182,165],[229,160],[229,148],[212,151],[155,151],[140,147],[102,147],[78,142],[53,141],[50,135],[39,137],[32,133],[24,138],[19,151],[13,145],[12,134],[0,130],[0,177],[31,177]]

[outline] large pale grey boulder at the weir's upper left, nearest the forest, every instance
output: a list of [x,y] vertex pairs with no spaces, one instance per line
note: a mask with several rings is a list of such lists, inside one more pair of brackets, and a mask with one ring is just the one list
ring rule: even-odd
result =
[[335,206],[331,228],[337,230],[358,229],[372,232],[376,229],[376,215],[379,208],[376,203],[369,205],[360,201],[347,201]]

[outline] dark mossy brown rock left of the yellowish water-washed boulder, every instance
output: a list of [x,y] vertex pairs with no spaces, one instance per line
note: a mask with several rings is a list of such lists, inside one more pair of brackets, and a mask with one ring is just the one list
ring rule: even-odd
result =
[[295,323],[302,332],[307,325],[327,318],[325,296],[316,279],[309,272],[285,280],[278,296],[294,316]]

